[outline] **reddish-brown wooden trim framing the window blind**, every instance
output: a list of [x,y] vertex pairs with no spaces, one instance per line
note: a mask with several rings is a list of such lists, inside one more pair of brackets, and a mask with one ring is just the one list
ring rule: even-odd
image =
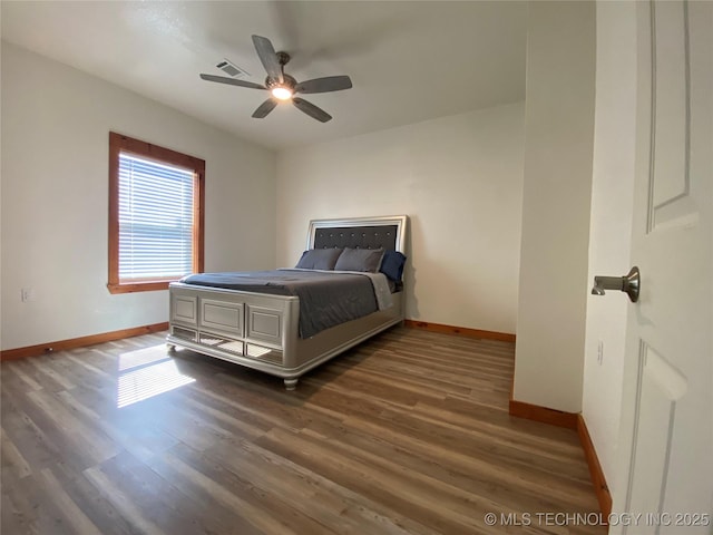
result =
[[194,171],[193,203],[193,271],[204,271],[205,236],[205,160],[183,153],[134,139],[114,132],[109,133],[109,282],[110,293],[149,292],[168,290],[177,279],[159,279],[141,282],[119,282],[119,153],[131,153],[159,163],[173,164]]

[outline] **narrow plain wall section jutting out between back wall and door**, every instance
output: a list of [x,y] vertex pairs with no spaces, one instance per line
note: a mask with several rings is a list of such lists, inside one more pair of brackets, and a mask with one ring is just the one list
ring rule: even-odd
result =
[[582,409],[594,134],[594,2],[530,2],[514,398]]

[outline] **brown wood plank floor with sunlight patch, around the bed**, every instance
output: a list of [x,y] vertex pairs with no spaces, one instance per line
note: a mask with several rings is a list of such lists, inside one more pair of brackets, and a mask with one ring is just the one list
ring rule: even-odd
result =
[[606,533],[576,432],[508,416],[512,361],[394,328],[293,392],[160,333],[3,362],[2,533]]

